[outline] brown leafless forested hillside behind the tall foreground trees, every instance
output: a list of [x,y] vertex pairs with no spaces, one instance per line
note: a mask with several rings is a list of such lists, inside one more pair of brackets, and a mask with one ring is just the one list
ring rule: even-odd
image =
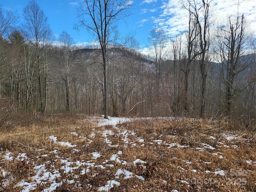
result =
[[[27,66],[26,57],[33,59],[33,55],[25,55],[26,49],[33,49],[29,47],[30,45],[23,44],[24,47],[19,48],[18,46],[21,45],[13,42],[4,42],[4,44],[6,59],[1,65],[2,104],[9,103],[15,110],[72,111],[85,114],[103,112],[103,68],[99,49],[77,48],[66,53],[63,48],[43,47],[40,62],[44,64],[44,68],[38,69],[36,66],[32,68]],[[14,54],[17,57],[14,57]],[[157,85],[156,66],[146,56],[127,48],[110,48],[108,56],[110,115],[200,115],[201,80],[198,60],[194,60],[189,68],[186,96],[184,89],[186,58],[165,60],[161,66],[160,83]],[[241,63],[246,60],[248,66],[235,79],[231,115],[253,118],[255,54],[243,56],[240,60]],[[39,71],[43,77],[41,78],[43,108],[40,107]],[[208,62],[205,101],[207,117],[225,114],[223,105],[225,74],[226,70],[222,64]],[[185,104],[188,106],[187,109]]]

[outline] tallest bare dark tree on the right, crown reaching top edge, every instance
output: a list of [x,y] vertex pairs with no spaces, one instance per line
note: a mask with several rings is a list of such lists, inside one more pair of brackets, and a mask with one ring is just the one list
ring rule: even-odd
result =
[[[184,70],[185,94],[188,94],[188,72],[193,60],[199,59],[201,74],[200,115],[204,116],[206,99],[207,60],[210,46],[210,4],[212,0],[187,0],[184,8],[189,14],[188,61]],[[193,78],[194,82],[194,78]],[[185,103],[185,110],[187,104]]]

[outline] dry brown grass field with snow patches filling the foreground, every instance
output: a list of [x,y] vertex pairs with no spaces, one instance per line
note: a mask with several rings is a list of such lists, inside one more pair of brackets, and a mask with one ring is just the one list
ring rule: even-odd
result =
[[0,132],[4,192],[256,191],[253,126],[34,114],[3,121]]

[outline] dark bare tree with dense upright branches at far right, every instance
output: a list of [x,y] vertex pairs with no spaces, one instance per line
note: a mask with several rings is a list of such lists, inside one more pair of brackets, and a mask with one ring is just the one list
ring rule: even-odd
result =
[[230,16],[226,25],[220,26],[218,31],[218,45],[220,48],[220,63],[222,65],[222,80],[225,85],[224,110],[230,115],[231,104],[236,94],[236,76],[248,67],[241,56],[246,50],[247,39],[244,15]]

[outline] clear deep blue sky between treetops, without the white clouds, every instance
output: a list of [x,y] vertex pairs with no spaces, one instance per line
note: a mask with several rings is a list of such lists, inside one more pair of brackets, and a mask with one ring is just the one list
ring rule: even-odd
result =
[[[1,2],[2,8],[17,10],[22,22],[23,8],[28,4],[29,0],[6,0]],[[74,39],[75,44],[88,44],[94,39],[89,36],[87,30],[74,30],[74,24],[78,22],[76,15],[76,0],[36,0],[40,8],[48,17],[48,22],[56,37],[66,30]],[[160,6],[162,2],[152,3],[147,1],[134,1],[132,15],[126,18],[126,24],[120,23],[120,37],[127,34],[135,33],[135,38],[140,42],[142,47],[148,44],[147,36],[149,30],[152,29],[154,23],[150,17],[157,17],[161,13]]]

